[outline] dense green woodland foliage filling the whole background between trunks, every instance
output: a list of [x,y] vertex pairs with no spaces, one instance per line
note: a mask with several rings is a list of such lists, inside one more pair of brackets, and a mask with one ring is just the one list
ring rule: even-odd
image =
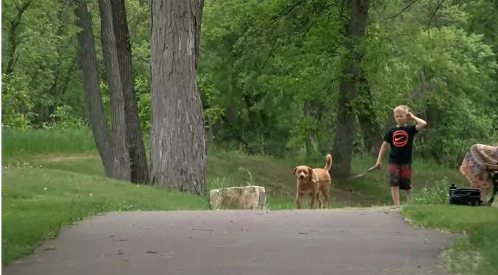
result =
[[[32,2],[12,30],[23,2],[2,2],[2,125],[27,129],[86,124],[75,59],[73,6]],[[361,68],[371,93],[358,93],[355,112],[381,129],[392,108],[408,104],[429,128],[415,154],[449,167],[474,143],[498,140],[498,19],[486,0],[417,1],[391,19],[398,3],[373,3],[360,41]],[[16,6],[17,5],[17,6]],[[105,112],[109,94],[102,64],[98,5],[94,23]],[[150,128],[149,10],[127,0],[136,98],[145,132]],[[198,87],[211,146],[276,157],[323,155],[334,139],[339,79],[345,57],[347,10],[334,1],[207,0],[204,5]],[[346,17],[346,18],[345,18]],[[13,35],[11,35],[13,34]],[[15,45],[15,47],[11,47]],[[14,50],[14,51],[13,51]],[[15,60],[6,72],[9,60]],[[365,84],[363,84],[365,85]],[[306,107],[305,107],[306,106]],[[305,143],[308,145],[305,148]],[[366,152],[369,153],[369,152]]]

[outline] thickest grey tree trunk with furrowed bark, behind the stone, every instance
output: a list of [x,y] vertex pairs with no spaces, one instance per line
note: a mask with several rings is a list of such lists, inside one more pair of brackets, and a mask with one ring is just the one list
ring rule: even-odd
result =
[[206,193],[204,115],[196,67],[203,0],[152,0],[150,165],[155,184]]

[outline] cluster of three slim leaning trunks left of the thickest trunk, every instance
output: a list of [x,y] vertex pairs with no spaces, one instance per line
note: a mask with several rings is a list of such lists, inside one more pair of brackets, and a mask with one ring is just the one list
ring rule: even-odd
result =
[[101,41],[110,90],[112,134],[101,97],[98,62],[90,14],[84,0],[77,0],[78,59],[90,126],[108,177],[148,183],[145,148],[133,87],[131,45],[122,1],[99,1]]

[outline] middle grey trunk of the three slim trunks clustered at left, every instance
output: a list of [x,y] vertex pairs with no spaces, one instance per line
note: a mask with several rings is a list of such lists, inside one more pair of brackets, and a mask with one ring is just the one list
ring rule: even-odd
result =
[[114,178],[131,181],[130,154],[126,142],[126,113],[116,51],[110,0],[99,0],[102,55],[109,84],[111,105],[111,145],[114,152]]

